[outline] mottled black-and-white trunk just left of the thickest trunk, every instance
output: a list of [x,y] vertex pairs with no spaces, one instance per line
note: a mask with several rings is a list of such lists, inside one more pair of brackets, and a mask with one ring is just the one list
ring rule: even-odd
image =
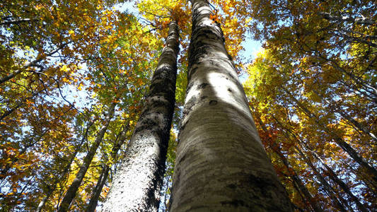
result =
[[175,104],[178,49],[178,25],[172,21],[149,95],[103,211],[158,209]]

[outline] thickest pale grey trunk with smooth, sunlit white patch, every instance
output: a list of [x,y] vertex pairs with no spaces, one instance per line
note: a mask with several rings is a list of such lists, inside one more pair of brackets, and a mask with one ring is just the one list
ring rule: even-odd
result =
[[292,211],[210,14],[206,0],[192,0],[188,85],[170,211]]

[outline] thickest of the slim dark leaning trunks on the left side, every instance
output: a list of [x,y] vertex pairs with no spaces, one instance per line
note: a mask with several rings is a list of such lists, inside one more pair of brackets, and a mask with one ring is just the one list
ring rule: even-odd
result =
[[76,192],[79,189],[81,182],[83,181],[83,177],[85,176],[86,171],[89,168],[89,165],[91,165],[95,152],[97,151],[98,146],[100,146],[103,136],[105,136],[105,132],[108,130],[110,120],[114,116],[115,105],[117,104],[112,103],[110,105],[108,112],[105,116],[105,124],[103,124],[100,131],[98,131],[94,143],[89,149],[88,154],[86,154],[85,158],[83,159],[83,165],[81,165],[80,170],[79,172],[77,172],[74,181],[71,183],[68,190],[66,191],[62,203],[59,206],[58,212],[68,211],[69,205],[71,205],[74,196],[76,196]]

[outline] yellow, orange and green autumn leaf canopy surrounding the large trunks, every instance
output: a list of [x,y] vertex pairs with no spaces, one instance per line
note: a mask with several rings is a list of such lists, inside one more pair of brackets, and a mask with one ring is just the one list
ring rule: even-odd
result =
[[[376,211],[376,2],[209,3],[295,210]],[[42,202],[43,211],[57,210],[107,124],[69,206],[85,211],[105,180],[100,208],[175,20],[176,107],[160,204],[167,210],[191,10],[180,0],[1,1],[0,211],[35,211]],[[253,58],[245,57],[250,40],[262,43]]]

